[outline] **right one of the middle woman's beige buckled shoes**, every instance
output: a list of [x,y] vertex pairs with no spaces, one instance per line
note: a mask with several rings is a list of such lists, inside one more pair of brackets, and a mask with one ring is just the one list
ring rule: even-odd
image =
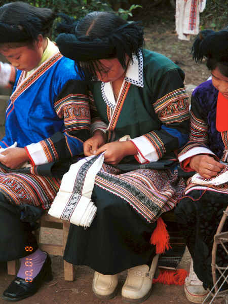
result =
[[153,278],[158,264],[157,254],[148,265],[139,265],[128,270],[128,276],[122,288],[122,299],[127,303],[141,303],[150,295]]

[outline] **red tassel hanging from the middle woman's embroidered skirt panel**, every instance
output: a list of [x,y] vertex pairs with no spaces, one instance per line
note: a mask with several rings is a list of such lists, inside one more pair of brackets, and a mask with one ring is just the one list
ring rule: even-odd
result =
[[162,254],[165,250],[171,248],[169,243],[169,234],[166,229],[166,224],[161,217],[157,220],[157,227],[150,238],[150,244],[156,245],[156,253]]

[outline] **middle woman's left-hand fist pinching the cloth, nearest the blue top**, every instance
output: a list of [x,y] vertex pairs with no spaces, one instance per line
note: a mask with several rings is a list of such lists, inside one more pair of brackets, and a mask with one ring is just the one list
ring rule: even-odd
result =
[[83,144],[85,156],[95,155],[99,147],[106,142],[106,134],[101,130],[96,130],[93,137],[87,139]]

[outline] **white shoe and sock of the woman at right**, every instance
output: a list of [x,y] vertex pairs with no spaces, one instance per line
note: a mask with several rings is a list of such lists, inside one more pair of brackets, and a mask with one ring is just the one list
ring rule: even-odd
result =
[[193,270],[193,259],[191,259],[189,275],[185,279],[184,292],[187,299],[193,303],[202,303],[209,293]]

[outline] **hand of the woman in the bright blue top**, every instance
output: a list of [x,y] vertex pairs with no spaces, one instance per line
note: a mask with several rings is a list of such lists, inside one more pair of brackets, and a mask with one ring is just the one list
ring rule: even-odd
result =
[[25,148],[9,148],[0,154],[0,162],[10,169],[20,168],[29,157]]

